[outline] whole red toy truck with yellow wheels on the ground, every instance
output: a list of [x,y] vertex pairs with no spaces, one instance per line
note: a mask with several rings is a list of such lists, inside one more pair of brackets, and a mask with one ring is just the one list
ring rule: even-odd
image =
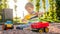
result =
[[40,33],[42,32],[49,32],[49,22],[36,22],[31,24],[32,31],[38,31]]

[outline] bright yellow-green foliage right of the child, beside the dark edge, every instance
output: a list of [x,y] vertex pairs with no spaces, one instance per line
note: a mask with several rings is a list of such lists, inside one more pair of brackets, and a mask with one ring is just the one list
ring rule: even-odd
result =
[[49,0],[49,4],[50,4],[50,8],[48,9],[48,12],[46,12],[43,15],[43,17],[40,18],[40,21],[60,22],[60,20],[58,20],[58,17],[57,17],[56,1]]

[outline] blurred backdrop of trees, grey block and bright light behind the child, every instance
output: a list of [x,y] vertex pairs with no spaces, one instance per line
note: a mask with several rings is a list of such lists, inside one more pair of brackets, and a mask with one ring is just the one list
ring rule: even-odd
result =
[[32,2],[34,11],[46,12],[40,21],[60,22],[60,0],[0,0],[0,23],[6,20],[21,22],[27,15],[25,4]]

